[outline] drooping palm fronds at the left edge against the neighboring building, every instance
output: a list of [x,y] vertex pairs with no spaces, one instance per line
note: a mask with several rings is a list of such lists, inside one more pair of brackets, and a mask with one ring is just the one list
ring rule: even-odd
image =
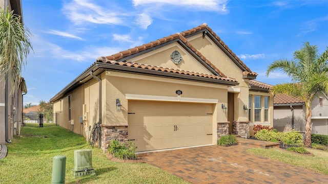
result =
[[0,74],[10,76],[12,86],[19,86],[22,66],[25,66],[30,48],[33,50],[30,37],[20,16],[0,9]]

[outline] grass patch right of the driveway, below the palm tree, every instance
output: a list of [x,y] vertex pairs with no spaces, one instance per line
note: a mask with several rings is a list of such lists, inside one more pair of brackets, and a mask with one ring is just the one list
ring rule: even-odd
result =
[[328,175],[328,151],[309,148],[305,149],[314,154],[314,156],[296,155],[293,153],[282,151],[279,148],[252,148],[247,150],[247,152],[272,158],[286,164],[303,167],[306,169],[313,170],[315,172]]

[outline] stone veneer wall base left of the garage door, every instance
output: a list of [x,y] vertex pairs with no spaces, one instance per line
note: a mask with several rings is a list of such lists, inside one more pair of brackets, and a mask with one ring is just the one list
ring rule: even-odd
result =
[[119,142],[128,141],[128,125],[105,125],[101,124],[101,149],[108,152],[108,146],[111,140]]

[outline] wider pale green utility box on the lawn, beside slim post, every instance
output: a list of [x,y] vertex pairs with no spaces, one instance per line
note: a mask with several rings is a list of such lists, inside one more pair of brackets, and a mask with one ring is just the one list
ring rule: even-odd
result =
[[92,155],[89,149],[80,149],[74,151],[74,177],[95,175],[92,167]]

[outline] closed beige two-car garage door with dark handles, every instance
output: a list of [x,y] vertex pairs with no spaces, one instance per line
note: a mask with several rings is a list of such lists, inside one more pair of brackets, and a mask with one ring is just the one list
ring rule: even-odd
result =
[[212,104],[129,101],[128,136],[136,151],[212,144]]

